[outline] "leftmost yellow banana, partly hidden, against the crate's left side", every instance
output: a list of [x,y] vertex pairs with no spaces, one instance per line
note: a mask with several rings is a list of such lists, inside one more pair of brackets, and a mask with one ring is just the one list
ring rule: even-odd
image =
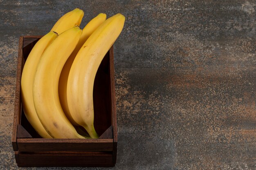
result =
[[35,44],[25,62],[21,76],[21,102],[29,123],[43,138],[52,138],[41,124],[34,107],[32,86],[38,62],[49,44],[57,38],[58,34],[51,31],[40,38]]

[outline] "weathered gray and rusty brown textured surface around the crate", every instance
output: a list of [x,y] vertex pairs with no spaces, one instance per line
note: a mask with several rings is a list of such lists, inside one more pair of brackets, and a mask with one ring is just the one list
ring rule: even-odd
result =
[[18,38],[46,34],[76,7],[81,27],[98,13],[126,16],[117,164],[76,169],[256,169],[255,0],[0,0],[1,170],[23,169],[11,147]]

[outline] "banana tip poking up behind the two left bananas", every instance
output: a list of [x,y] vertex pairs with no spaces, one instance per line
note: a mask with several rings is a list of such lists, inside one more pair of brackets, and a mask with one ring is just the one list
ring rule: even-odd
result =
[[55,31],[58,34],[63,33],[64,31],[73,28],[74,26],[80,26],[83,19],[83,10],[76,8],[73,11],[70,11],[64,14],[52,27],[51,31]]

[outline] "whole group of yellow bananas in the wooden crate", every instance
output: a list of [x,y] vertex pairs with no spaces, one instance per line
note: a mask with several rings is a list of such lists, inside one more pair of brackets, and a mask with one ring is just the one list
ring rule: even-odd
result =
[[[106,20],[100,13],[82,30],[83,14],[74,9],[63,15],[35,44],[22,71],[22,107],[43,138],[99,137],[93,124],[94,78],[125,17],[118,13]],[[88,135],[74,126],[85,128]]]

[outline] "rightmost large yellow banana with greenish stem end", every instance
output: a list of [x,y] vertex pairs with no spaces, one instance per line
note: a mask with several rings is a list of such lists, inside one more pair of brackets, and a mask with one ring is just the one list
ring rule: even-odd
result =
[[124,15],[116,14],[99,26],[77,53],[67,80],[67,104],[77,124],[83,126],[90,137],[98,138],[94,129],[94,78],[112,44],[124,27]]

